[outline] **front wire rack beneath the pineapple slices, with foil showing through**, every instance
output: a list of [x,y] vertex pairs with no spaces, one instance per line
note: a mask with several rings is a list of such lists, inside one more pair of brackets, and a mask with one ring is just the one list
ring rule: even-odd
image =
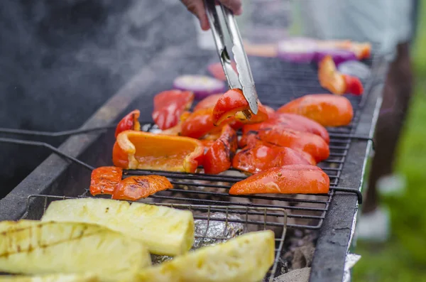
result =
[[[40,219],[51,202],[56,200],[77,199],[77,197],[60,197],[52,195],[31,195],[27,200],[26,213],[22,219]],[[190,210],[195,219],[195,243],[192,249],[225,242],[247,232],[271,229],[275,232],[275,260],[263,281],[272,282],[273,278],[282,273],[281,258],[286,232],[287,216],[283,208],[249,207],[223,205],[192,205],[173,203],[152,203]],[[155,256],[153,262],[165,258]]]

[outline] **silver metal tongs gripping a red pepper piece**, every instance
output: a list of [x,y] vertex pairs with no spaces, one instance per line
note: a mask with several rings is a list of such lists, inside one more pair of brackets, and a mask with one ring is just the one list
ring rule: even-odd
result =
[[[246,52],[244,51],[241,35],[234,18],[234,14],[225,6],[219,4],[224,15],[226,28],[229,31],[229,35],[233,43],[232,53],[234,53],[236,70],[238,73],[236,73],[234,68],[232,68],[231,59],[229,58],[229,53],[226,50],[226,45],[224,43],[224,33],[222,31],[222,26],[217,14],[216,3],[214,0],[204,0],[204,4],[206,6],[207,18],[209,18],[210,28],[212,28],[213,38],[216,42],[217,53],[222,63],[222,67],[224,68],[229,87],[231,89],[239,88],[243,90],[244,97],[246,98],[247,102],[249,102],[251,112],[253,114],[257,114],[258,95],[256,88],[254,87],[253,75],[251,74],[249,60],[247,59]],[[249,111],[244,111],[243,113],[247,117],[251,116]]]

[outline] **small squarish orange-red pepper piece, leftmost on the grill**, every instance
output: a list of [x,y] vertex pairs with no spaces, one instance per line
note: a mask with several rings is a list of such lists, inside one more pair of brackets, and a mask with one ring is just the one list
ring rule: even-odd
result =
[[116,166],[102,166],[92,170],[90,178],[90,194],[112,195],[123,176],[123,169]]

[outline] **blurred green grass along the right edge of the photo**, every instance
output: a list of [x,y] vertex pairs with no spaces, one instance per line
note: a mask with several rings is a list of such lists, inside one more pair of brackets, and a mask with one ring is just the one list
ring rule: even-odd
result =
[[[404,0],[401,0],[404,1]],[[398,173],[407,178],[402,196],[382,196],[391,210],[391,239],[383,244],[357,242],[361,260],[353,281],[426,281],[426,3],[421,1],[412,61],[415,90],[403,139]]]

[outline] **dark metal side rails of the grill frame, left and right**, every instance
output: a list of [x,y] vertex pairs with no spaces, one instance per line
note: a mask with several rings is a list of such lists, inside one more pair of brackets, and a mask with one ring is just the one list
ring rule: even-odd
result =
[[[131,103],[143,92],[149,92],[155,85],[155,74],[161,73],[181,53],[181,48],[168,48],[158,55],[158,60],[151,63],[125,85],[114,97],[104,104],[83,126],[82,129],[103,127],[114,124],[120,117],[129,111]],[[384,61],[376,60],[373,65],[373,73],[377,74],[385,64]],[[349,146],[348,156],[354,161],[346,161],[341,173],[342,183],[351,189],[360,190],[362,177],[366,167],[366,156],[371,151],[371,136],[374,128],[377,112],[381,100],[381,80],[373,79],[370,93],[365,96],[361,104],[366,105],[359,111],[359,122],[351,132],[353,135],[364,136],[364,139],[352,139]],[[151,99],[144,97],[144,99]],[[150,107],[138,107],[143,115],[151,112]],[[376,116],[376,117],[375,117]],[[104,154],[102,158],[97,156],[111,151],[111,141],[104,138],[106,134],[111,136],[112,130],[107,133],[94,133],[76,135],[70,137],[58,148],[68,155],[79,158],[85,163],[94,166],[102,166],[109,163],[110,156]],[[332,134],[341,134],[341,130],[332,131]],[[366,138],[365,138],[366,137]],[[356,160],[356,161],[355,161]],[[23,180],[9,195],[0,200],[0,220],[21,218],[26,211],[26,201],[29,195],[78,195],[81,187],[87,187],[89,173],[82,170],[75,163],[70,163],[60,156],[52,154],[33,173]],[[75,180],[70,181],[70,180]],[[329,214],[324,219],[320,230],[320,239],[317,242],[310,281],[342,281],[344,258],[353,236],[354,223],[357,214],[357,198],[346,192],[337,192],[329,207]]]

